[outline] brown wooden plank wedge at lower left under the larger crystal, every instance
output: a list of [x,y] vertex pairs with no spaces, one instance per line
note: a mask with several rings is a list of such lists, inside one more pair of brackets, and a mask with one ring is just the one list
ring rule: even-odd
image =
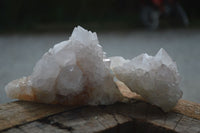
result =
[[3,104],[0,105],[0,131],[72,108],[74,107],[26,101],[15,101]]

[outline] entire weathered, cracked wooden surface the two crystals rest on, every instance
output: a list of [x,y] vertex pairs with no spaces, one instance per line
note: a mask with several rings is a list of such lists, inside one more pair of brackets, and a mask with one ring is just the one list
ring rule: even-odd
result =
[[118,86],[123,88],[128,102],[82,107],[23,101],[0,105],[0,132],[200,133],[199,104],[180,100],[171,112],[164,113],[129,92],[123,84]]

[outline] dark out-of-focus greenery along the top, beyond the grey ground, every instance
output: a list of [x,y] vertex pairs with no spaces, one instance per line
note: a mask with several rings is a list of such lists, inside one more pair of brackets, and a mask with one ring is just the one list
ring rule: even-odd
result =
[[[198,16],[198,2],[180,1],[190,18]],[[0,31],[70,27],[72,25],[134,26],[140,0],[0,0]]]

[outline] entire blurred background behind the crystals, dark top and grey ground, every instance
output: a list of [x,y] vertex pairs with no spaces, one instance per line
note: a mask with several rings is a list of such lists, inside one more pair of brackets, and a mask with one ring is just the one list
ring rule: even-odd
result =
[[0,103],[4,86],[77,25],[97,32],[108,56],[155,55],[177,62],[183,99],[200,103],[200,8],[188,0],[0,0]]

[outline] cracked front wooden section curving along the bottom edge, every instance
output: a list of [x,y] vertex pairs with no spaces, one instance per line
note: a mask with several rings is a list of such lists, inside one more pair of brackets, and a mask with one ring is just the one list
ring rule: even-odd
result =
[[[51,130],[48,130],[50,128]],[[4,130],[20,132],[167,132],[199,133],[200,120],[179,113],[164,113],[142,101],[109,106],[85,106]]]

